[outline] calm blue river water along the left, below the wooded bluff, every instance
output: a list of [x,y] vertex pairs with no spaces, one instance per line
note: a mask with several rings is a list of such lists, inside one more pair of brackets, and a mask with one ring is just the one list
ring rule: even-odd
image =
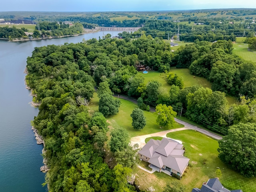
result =
[[[104,31],[116,36],[120,31]],[[82,42],[103,32],[28,42],[0,41],[0,192],[45,192],[40,172],[42,145],[36,144],[30,121],[38,114],[24,84],[26,58],[34,47]]]

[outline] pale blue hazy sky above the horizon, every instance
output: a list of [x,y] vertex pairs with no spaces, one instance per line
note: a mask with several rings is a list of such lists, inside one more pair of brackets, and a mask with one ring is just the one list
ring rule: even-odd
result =
[[2,1],[0,11],[149,11],[256,8],[255,0],[42,0]]

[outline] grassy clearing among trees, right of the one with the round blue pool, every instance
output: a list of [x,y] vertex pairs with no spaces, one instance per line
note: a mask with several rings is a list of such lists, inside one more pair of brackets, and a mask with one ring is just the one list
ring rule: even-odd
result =
[[183,78],[185,87],[193,86],[195,84],[200,84],[203,87],[208,88],[211,88],[212,86],[206,78],[192,75],[189,69],[176,69],[175,67],[172,67],[170,71]]

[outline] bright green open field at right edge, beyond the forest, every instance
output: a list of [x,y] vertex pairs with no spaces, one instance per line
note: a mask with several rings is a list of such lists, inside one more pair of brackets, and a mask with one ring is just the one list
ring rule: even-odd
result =
[[248,51],[248,44],[233,44],[233,53],[245,60],[256,62],[256,51]]

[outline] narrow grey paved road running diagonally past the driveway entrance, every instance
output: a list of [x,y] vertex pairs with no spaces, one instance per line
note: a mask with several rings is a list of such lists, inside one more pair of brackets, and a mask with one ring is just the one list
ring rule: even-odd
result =
[[[129,97],[127,97],[127,96],[114,94],[114,97],[120,98],[120,99],[124,99],[124,100],[128,100],[128,101],[130,101],[130,102],[133,102],[133,103],[137,104],[137,100],[136,100],[136,99],[129,98]],[[156,112],[156,109],[151,106],[151,107],[150,107],[150,111],[151,111],[151,112]],[[210,137],[212,137],[212,138],[214,138],[214,139],[216,139],[216,140],[222,139],[222,136],[219,136],[219,135],[217,135],[217,134],[215,134],[215,133],[213,133],[213,132],[210,132],[210,131],[204,130],[204,129],[202,129],[202,128],[199,128],[199,127],[197,127],[197,126],[191,125],[191,124],[189,124],[189,123],[187,123],[187,122],[184,122],[184,121],[182,121],[182,120],[179,120],[179,119],[177,119],[177,118],[174,118],[174,120],[175,120],[176,122],[178,122],[178,123],[180,123],[180,124],[182,124],[182,125],[188,127],[188,128],[191,128],[191,129],[194,129],[194,130],[196,130],[196,131],[198,131],[198,132],[200,132],[200,133],[206,134],[207,136],[210,136]]]

